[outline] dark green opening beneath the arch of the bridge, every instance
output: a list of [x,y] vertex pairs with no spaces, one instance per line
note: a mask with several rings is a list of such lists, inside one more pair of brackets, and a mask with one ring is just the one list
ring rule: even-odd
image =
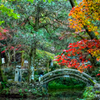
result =
[[86,83],[82,82],[81,80],[75,78],[68,78],[68,77],[60,77],[55,78],[47,83],[49,90],[54,89],[84,89],[86,87]]

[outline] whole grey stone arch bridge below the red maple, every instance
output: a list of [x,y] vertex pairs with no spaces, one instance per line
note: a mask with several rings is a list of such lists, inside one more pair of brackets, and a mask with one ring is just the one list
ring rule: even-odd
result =
[[89,76],[88,74],[84,73],[84,72],[80,72],[76,69],[57,69],[54,71],[51,71],[45,75],[43,75],[42,77],[39,77],[39,82],[40,85],[44,85],[44,84],[48,84],[50,81],[57,79],[57,78],[61,78],[61,77],[68,77],[68,78],[74,78],[77,80],[80,80],[84,83],[86,83],[86,85],[94,85],[96,84],[96,80]]

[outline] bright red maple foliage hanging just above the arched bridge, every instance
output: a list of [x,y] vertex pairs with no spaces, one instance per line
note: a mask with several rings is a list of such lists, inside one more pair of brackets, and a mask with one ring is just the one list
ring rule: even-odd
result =
[[[79,71],[83,71],[86,68],[91,68],[92,63],[88,55],[91,57],[97,57],[100,49],[100,40],[81,40],[75,43],[70,43],[67,50],[63,50],[61,55],[56,56],[54,61],[57,61],[60,65],[66,65],[67,67],[77,68]],[[100,56],[98,56],[100,57]]]

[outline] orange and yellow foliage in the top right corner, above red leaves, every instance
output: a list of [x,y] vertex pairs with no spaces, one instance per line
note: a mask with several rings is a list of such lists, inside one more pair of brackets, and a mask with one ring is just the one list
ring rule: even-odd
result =
[[[98,1],[98,2],[97,2]],[[92,21],[100,20],[100,0],[83,0],[78,6],[74,7],[69,16],[70,28],[74,28],[77,31],[82,30],[83,25],[88,26],[88,30],[95,32],[98,27],[95,26]],[[79,26],[79,27],[78,27]]]

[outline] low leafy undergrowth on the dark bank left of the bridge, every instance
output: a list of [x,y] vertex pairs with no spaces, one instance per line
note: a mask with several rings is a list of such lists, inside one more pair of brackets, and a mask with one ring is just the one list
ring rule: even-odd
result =
[[[8,85],[8,84],[7,84]],[[42,91],[40,87],[28,83],[10,83],[11,86],[6,86],[0,91],[1,97],[10,98],[37,98],[46,95],[46,91]],[[32,86],[33,85],[33,86]]]

